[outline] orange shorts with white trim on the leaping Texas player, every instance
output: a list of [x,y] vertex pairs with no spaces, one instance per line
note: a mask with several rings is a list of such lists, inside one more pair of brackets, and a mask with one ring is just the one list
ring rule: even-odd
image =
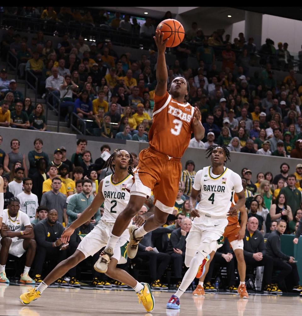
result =
[[131,195],[154,195],[154,205],[172,214],[181,175],[180,158],[169,157],[153,148],[143,149],[134,171]]

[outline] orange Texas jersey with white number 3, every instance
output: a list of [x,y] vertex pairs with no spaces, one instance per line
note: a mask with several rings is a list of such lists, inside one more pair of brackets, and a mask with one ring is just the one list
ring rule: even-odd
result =
[[166,92],[154,94],[153,123],[149,143],[153,148],[171,157],[181,157],[191,139],[194,107],[180,103]]

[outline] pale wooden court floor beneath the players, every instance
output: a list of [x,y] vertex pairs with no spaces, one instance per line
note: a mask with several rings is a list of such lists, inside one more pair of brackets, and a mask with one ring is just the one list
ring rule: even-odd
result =
[[147,313],[134,291],[99,289],[48,288],[41,298],[29,306],[20,304],[18,298],[25,286],[0,285],[0,315],[3,316],[284,316],[301,315],[302,298],[296,296],[250,295],[248,300],[238,295],[206,294],[193,297],[185,293],[181,297],[180,310],[166,310],[171,292],[153,292],[155,308]]

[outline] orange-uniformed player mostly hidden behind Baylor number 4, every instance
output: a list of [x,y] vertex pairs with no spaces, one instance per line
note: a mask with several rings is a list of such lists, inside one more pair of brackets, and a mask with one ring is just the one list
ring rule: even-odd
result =
[[[232,207],[237,203],[237,201],[238,201],[238,197],[236,193],[234,192]],[[227,227],[225,228],[223,237],[229,240],[230,245],[233,248],[236,259],[237,259],[237,269],[238,269],[239,278],[240,278],[240,285],[237,289],[239,293],[239,297],[248,298],[249,295],[245,287],[246,265],[245,265],[244,256],[243,256],[243,238],[245,236],[245,228],[246,228],[246,223],[248,221],[248,213],[244,206],[240,208],[239,211],[240,211],[240,224],[236,216],[228,216],[229,223]],[[198,269],[196,277],[197,278],[200,277],[200,279],[199,279],[199,283],[196,289],[193,292],[194,296],[204,296],[204,288],[203,288],[204,278],[206,274],[208,273],[209,265],[214,257],[215,252],[216,251],[211,252],[210,260],[206,263],[204,274],[201,277],[200,277],[201,271],[199,271],[200,269]]]

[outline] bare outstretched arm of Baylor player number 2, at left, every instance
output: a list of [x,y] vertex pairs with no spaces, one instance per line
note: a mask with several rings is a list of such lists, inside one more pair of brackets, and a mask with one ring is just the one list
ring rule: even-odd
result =
[[105,199],[102,193],[102,187],[103,180],[100,182],[100,185],[98,186],[98,193],[94,197],[92,203],[84,210],[80,217],[78,217],[74,222],[72,222],[72,224],[69,227],[67,227],[64,230],[61,236],[61,240],[63,241],[63,243],[69,241],[70,236],[73,234],[74,230],[83,225],[84,223],[88,222],[91,219],[91,217],[94,216],[94,214],[97,212],[98,208],[103,204]]

